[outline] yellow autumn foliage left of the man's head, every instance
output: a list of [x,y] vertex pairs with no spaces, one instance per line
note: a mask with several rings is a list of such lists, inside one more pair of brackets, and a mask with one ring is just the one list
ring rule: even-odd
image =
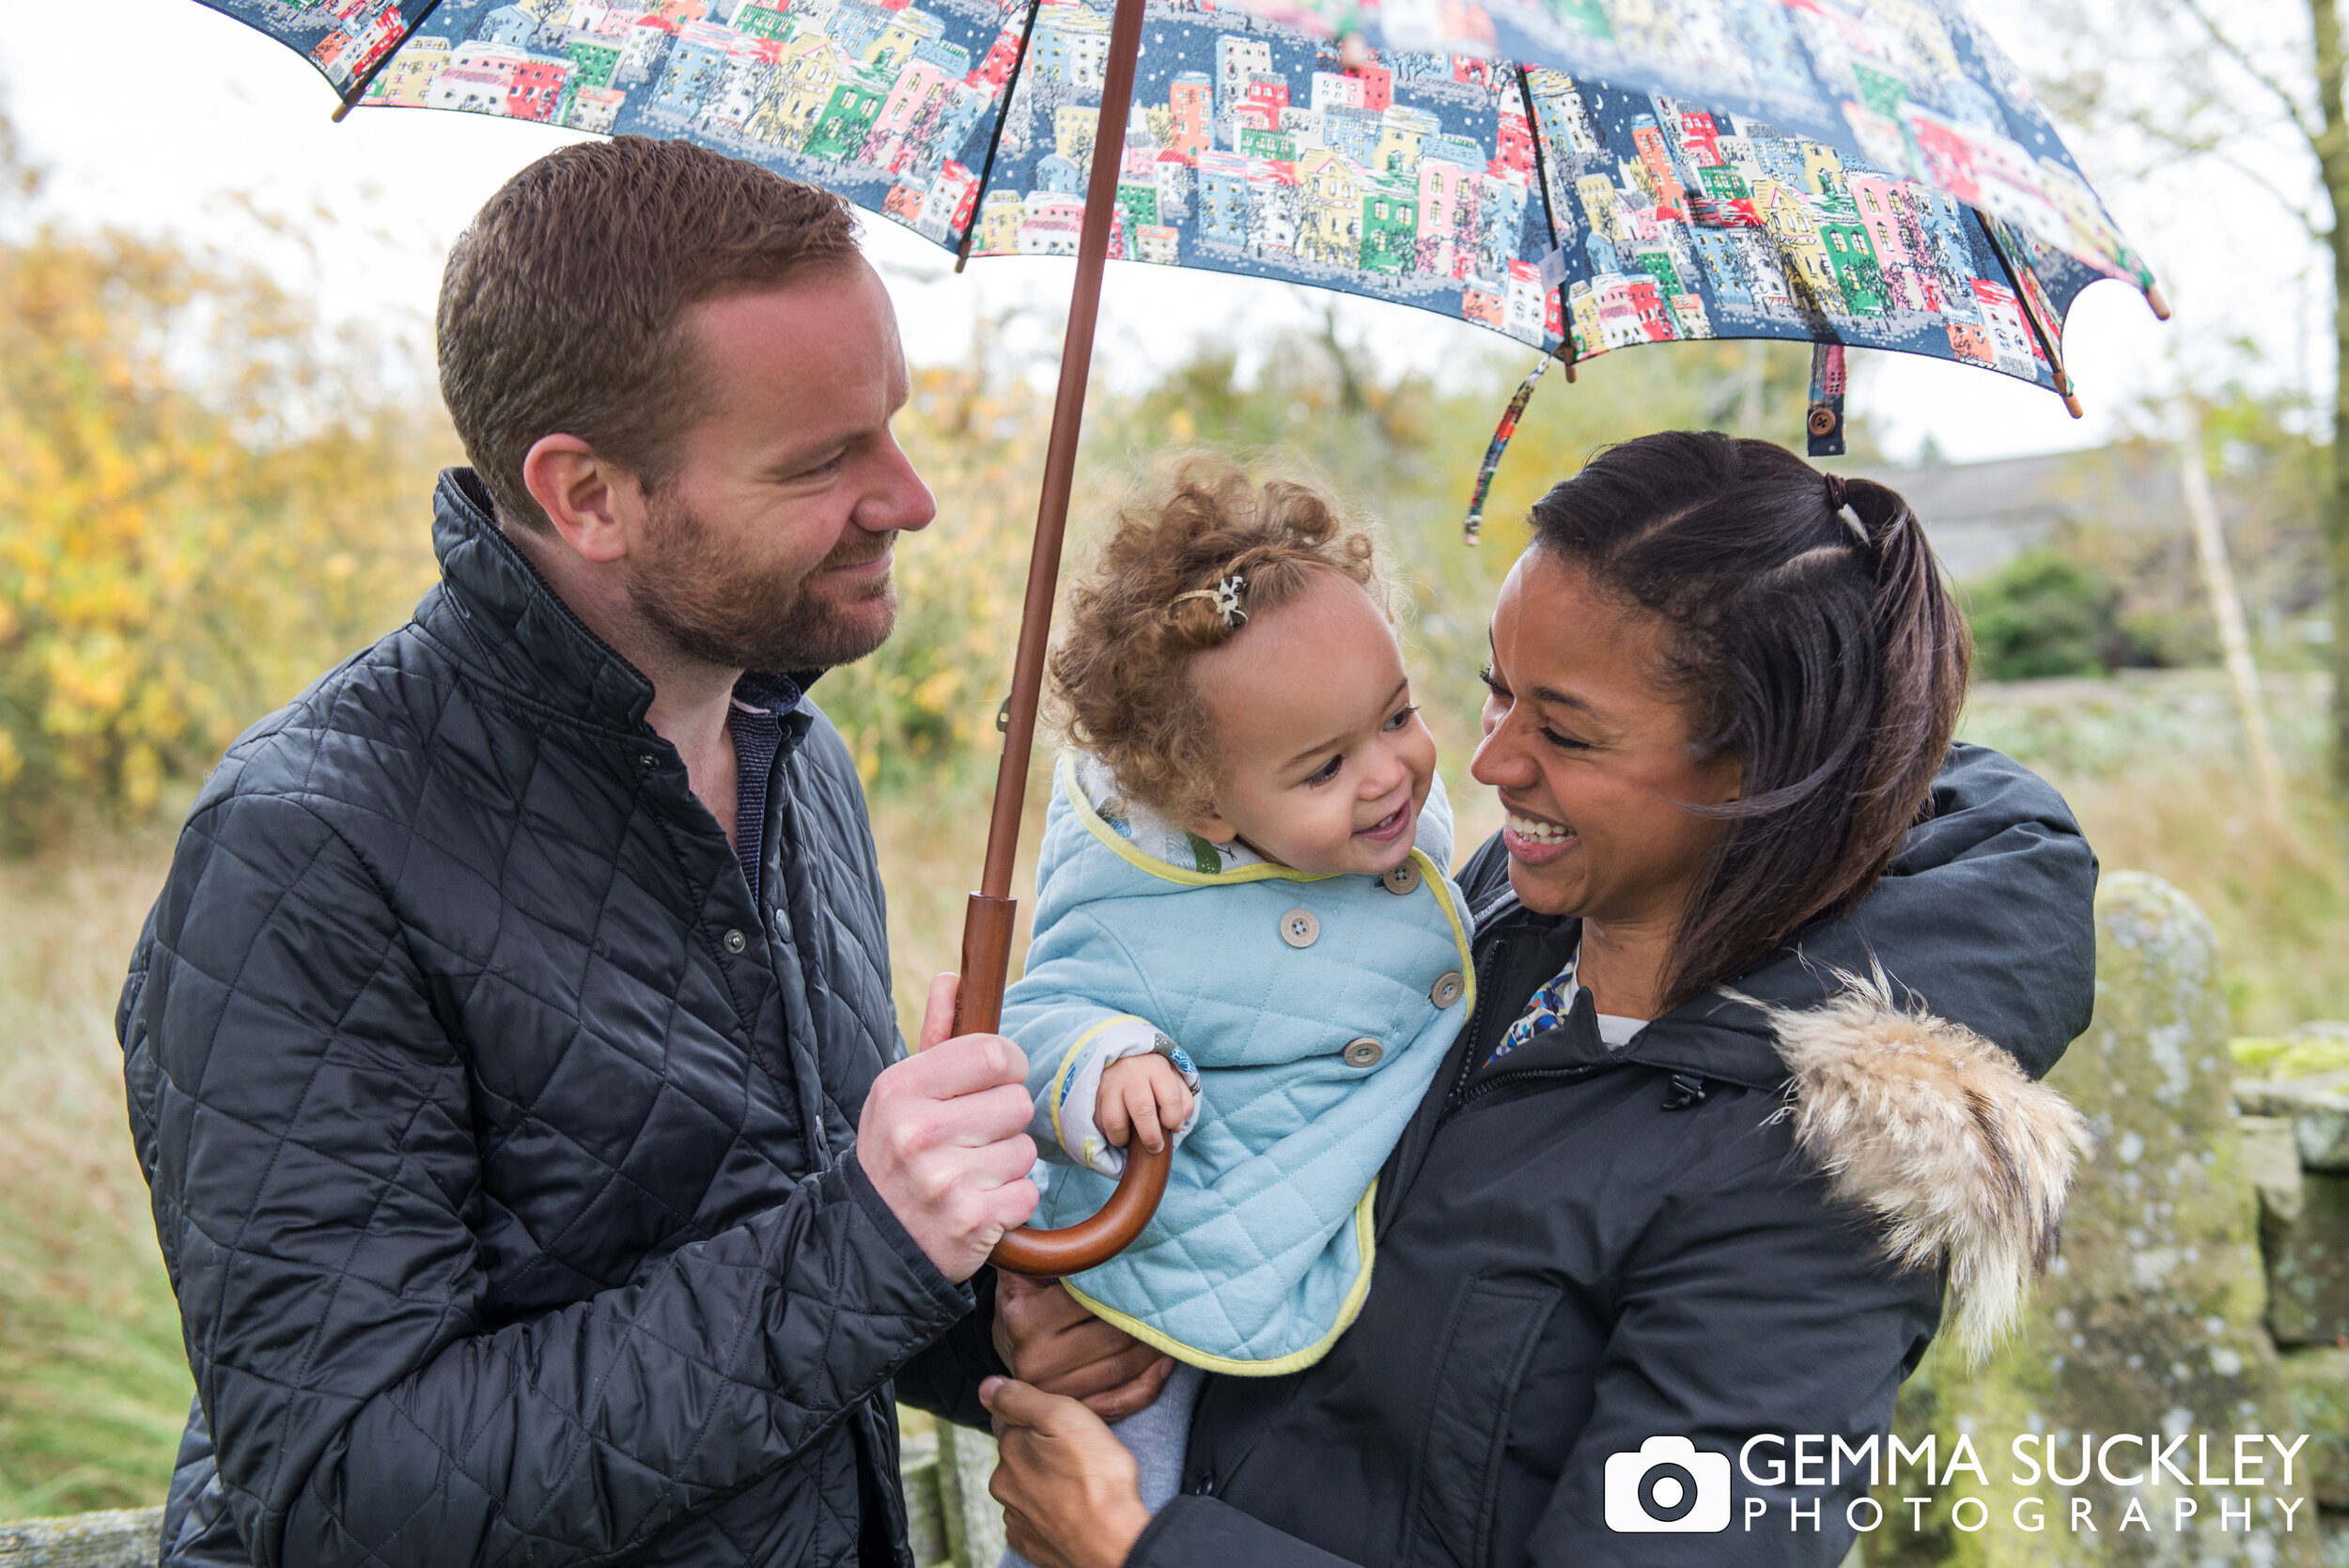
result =
[[148,815],[432,580],[439,411],[263,272],[0,230],[0,845]]

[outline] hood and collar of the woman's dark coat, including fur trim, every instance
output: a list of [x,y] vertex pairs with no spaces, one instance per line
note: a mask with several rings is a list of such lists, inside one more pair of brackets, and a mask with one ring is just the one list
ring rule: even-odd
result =
[[[1508,939],[1527,974],[1571,955],[1579,922],[1525,911],[1492,845],[1461,885],[1478,941]],[[2091,1148],[2086,1120],[2037,1080],[2088,1026],[2093,892],[2095,857],[2062,800],[1994,751],[1952,746],[1936,817],[1858,913],[1618,1052],[1560,1028],[1470,1070],[1468,1087],[1503,1070],[1644,1066],[1689,1091],[1769,1096],[1764,1115],[1788,1124],[1835,1202],[1875,1216],[1891,1258],[1947,1268],[1943,1329],[1983,1357],[2053,1256]]]

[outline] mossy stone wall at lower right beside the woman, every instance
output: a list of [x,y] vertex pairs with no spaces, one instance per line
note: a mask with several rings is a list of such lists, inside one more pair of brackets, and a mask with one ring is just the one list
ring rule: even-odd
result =
[[[1907,1444],[1933,1437],[1945,1458],[1968,1439],[1980,1474],[1879,1486],[1889,1528],[1863,1552],[1900,1568],[2349,1568],[2349,1096],[2236,1084],[2210,925],[2159,878],[2105,880],[2095,991],[2051,1075],[2098,1129],[2062,1251],[1992,1361],[1938,1345],[1900,1397]],[[2173,1469],[2147,1469],[2131,1437],[2105,1451],[2116,1434]],[[2267,1462],[2236,1474],[2236,1434],[2307,1434],[2290,1486],[2264,1439],[2250,1448]],[[2053,1446],[2067,1483],[2020,1465],[2018,1437],[2039,1460]],[[1921,1509],[1900,1502],[1919,1493]]]

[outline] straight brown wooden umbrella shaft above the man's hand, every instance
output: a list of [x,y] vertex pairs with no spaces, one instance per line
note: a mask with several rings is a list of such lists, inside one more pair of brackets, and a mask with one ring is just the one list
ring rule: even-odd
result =
[[1036,699],[1043,690],[1045,646],[1052,636],[1052,596],[1059,587],[1059,545],[1069,530],[1076,481],[1076,441],[1085,423],[1085,383],[1092,376],[1092,326],[1102,312],[1102,265],[1118,209],[1125,162],[1125,120],[1135,103],[1135,56],[1142,52],[1144,0],[1118,0],[1109,26],[1109,68],[1102,117],[1092,134],[1092,176],[1085,185],[1085,225],[1076,244],[1076,289],[1069,333],[1059,350],[1059,397],[1052,439],[1043,455],[1036,500],[1036,545],[1029,552],[1027,601],[1019,610],[1019,650],[1012,657],[1012,699],[996,765],[996,803],[987,822],[987,866],[963,915],[963,991],[956,1033],[989,1033],[1003,1021],[1003,981],[1012,958],[1012,861],[1019,854],[1019,815],[1027,805],[1029,751],[1036,746]]

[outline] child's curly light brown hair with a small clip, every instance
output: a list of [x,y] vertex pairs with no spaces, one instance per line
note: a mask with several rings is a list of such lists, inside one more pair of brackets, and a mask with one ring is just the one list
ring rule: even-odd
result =
[[[1137,803],[1177,822],[1210,815],[1214,735],[1191,662],[1297,599],[1315,570],[1360,584],[1393,620],[1377,547],[1334,500],[1294,479],[1259,488],[1224,455],[1179,458],[1118,512],[1069,592],[1050,660],[1055,728]],[[1214,599],[1226,577],[1245,580],[1238,622]]]

